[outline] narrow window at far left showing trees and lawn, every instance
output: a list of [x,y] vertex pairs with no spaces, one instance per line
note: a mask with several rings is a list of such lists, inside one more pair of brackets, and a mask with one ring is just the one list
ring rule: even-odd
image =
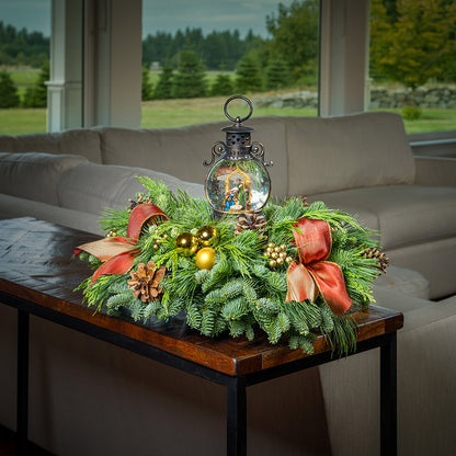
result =
[[50,0],[2,1],[0,134],[46,132]]

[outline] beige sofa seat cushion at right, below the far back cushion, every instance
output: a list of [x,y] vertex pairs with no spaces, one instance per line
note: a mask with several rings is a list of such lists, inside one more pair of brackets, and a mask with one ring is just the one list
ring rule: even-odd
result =
[[316,198],[333,208],[375,214],[384,249],[456,236],[456,187],[388,185],[312,195],[309,200]]

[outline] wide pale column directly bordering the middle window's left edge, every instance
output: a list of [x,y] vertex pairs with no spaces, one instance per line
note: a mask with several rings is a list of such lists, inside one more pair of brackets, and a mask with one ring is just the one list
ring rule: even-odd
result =
[[141,0],[84,0],[84,127],[138,128]]

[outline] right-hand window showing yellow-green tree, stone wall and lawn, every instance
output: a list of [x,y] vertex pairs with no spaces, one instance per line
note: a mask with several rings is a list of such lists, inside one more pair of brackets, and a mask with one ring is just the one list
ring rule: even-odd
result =
[[372,0],[372,110],[402,114],[410,134],[455,129],[455,24],[452,0]]

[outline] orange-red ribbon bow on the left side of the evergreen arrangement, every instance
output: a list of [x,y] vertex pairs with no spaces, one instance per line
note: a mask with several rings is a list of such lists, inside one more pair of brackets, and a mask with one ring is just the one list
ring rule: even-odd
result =
[[168,216],[159,207],[153,204],[140,204],[129,215],[126,238],[104,238],[76,248],[75,255],[84,251],[103,261],[92,275],[91,283],[95,283],[103,274],[125,274],[138,253],[138,239],[145,224],[160,224],[166,219]]

